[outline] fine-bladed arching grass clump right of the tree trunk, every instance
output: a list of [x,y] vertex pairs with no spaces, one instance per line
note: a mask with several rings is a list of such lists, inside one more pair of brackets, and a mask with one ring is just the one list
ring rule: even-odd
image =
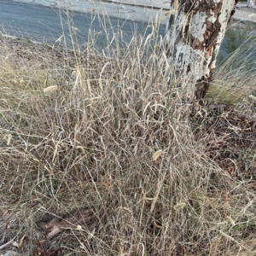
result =
[[256,89],[255,26],[241,23],[233,26],[224,40],[227,56],[220,61],[207,93],[208,98],[218,97],[227,104],[239,104],[248,94],[255,94]]

